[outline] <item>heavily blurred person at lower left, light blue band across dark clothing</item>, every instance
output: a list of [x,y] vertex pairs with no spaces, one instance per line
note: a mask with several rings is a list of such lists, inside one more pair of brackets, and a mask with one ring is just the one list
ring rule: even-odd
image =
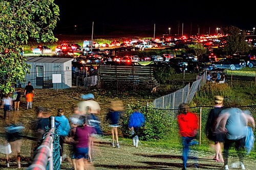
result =
[[[15,113],[9,117],[9,125],[6,127],[6,140],[11,145],[12,153],[17,155],[17,167],[20,168],[20,134],[23,132],[25,127],[23,124],[17,122],[18,115],[19,113]],[[7,167],[10,167],[8,154],[6,155],[6,165]]]

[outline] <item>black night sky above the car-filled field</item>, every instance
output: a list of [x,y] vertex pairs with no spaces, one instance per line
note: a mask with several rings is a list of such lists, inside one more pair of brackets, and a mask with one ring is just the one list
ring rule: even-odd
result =
[[[224,1],[159,1],[144,0],[56,0],[60,8],[60,20],[56,34],[91,34],[94,21],[95,35],[152,35],[154,23],[156,34],[180,33],[182,22],[184,34],[209,31],[217,27],[237,26],[244,30],[255,27],[255,9],[252,2],[241,1],[230,6]],[[210,4],[209,4],[210,3]],[[74,26],[77,26],[76,28]]]

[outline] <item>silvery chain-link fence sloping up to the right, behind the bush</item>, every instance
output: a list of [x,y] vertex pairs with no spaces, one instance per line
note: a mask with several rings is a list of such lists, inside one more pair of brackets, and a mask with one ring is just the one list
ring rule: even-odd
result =
[[197,81],[193,82],[191,87],[190,84],[187,84],[182,89],[161,96],[160,98],[157,98],[155,101],[153,101],[153,106],[155,108],[161,109],[177,109],[181,103],[191,102],[196,92],[206,84],[206,76],[206,71],[204,71],[203,74],[197,76]]

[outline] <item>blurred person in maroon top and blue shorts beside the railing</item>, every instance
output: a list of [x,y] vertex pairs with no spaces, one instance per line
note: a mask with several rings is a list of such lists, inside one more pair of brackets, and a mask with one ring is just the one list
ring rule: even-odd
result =
[[91,143],[93,134],[96,133],[95,129],[88,126],[86,117],[80,116],[81,126],[77,126],[75,130],[75,157],[77,170],[92,169],[88,158],[91,155]]

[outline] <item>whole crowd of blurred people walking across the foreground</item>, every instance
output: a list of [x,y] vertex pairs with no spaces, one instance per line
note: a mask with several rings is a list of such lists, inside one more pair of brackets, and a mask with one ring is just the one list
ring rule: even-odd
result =
[[[9,157],[11,151],[15,151],[17,155],[17,167],[20,168],[20,134],[25,127],[18,123],[19,115],[19,101],[22,96],[21,90],[17,89],[16,96],[5,95],[2,99],[2,107],[4,108],[4,116],[8,117],[8,124],[6,126],[6,165],[9,167]],[[31,96],[28,94],[32,94]],[[27,98],[27,109],[32,108],[34,88],[30,82],[25,88],[24,95]],[[15,100],[13,99],[15,98]],[[45,134],[47,127],[49,127],[49,117],[55,116],[56,133],[59,135],[60,145],[60,162],[64,158],[63,144],[67,143],[70,150],[70,157],[72,159],[73,169],[94,169],[92,161],[92,150],[94,146],[94,139],[96,136],[102,135],[100,120],[98,114],[100,112],[100,105],[94,100],[94,95],[82,94],[82,101],[72,106],[73,114],[65,115],[65,110],[58,109],[56,115],[52,111],[37,107],[37,119],[34,122],[34,132],[37,138],[37,143],[33,148],[38,147],[40,139]],[[241,169],[245,169],[243,160],[246,153],[248,154],[253,147],[254,136],[253,131],[255,123],[253,116],[248,111],[243,111],[236,107],[227,108],[223,105],[224,98],[222,96],[215,96],[215,108],[211,109],[206,123],[206,136],[209,140],[214,142],[216,162],[224,163],[224,169],[228,170],[228,151],[231,145],[235,144],[235,149],[239,156],[239,162],[232,164],[232,167],[240,165]],[[14,105],[14,112],[10,112]],[[124,106],[122,101],[112,101],[109,112],[106,114],[106,120],[109,121],[111,128],[113,148],[120,148],[118,140],[118,127],[120,127],[120,117],[122,116]],[[134,112],[130,115],[128,127],[131,132],[131,139],[134,147],[138,147],[139,131],[145,124],[145,116],[139,112],[138,108],[134,108]],[[189,153],[193,153],[191,148],[199,144],[197,140],[199,129],[199,117],[197,113],[191,112],[189,105],[182,103],[179,106],[177,122],[179,125],[179,132],[183,146],[183,170],[187,169],[187,160]],[[222,146],[224,143],[224,152],[222,155]],[[0,147],[1,149],[1,147]],[[1,151],[1,150],[0,150]],[[32,156],[33,157],[33,156]],[[198,167],[198,160],[196,152],[193,155],[195,166]]]

